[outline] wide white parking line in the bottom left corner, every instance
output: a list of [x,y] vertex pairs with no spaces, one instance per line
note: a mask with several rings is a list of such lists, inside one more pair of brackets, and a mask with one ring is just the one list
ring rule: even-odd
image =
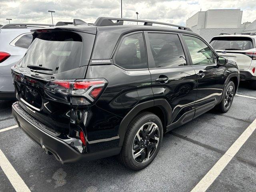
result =
[[22,178],[8,161],[2,150],[0,150],[0,167],[6,174],[16,192],[30,192],[28,186],[24,183]]

